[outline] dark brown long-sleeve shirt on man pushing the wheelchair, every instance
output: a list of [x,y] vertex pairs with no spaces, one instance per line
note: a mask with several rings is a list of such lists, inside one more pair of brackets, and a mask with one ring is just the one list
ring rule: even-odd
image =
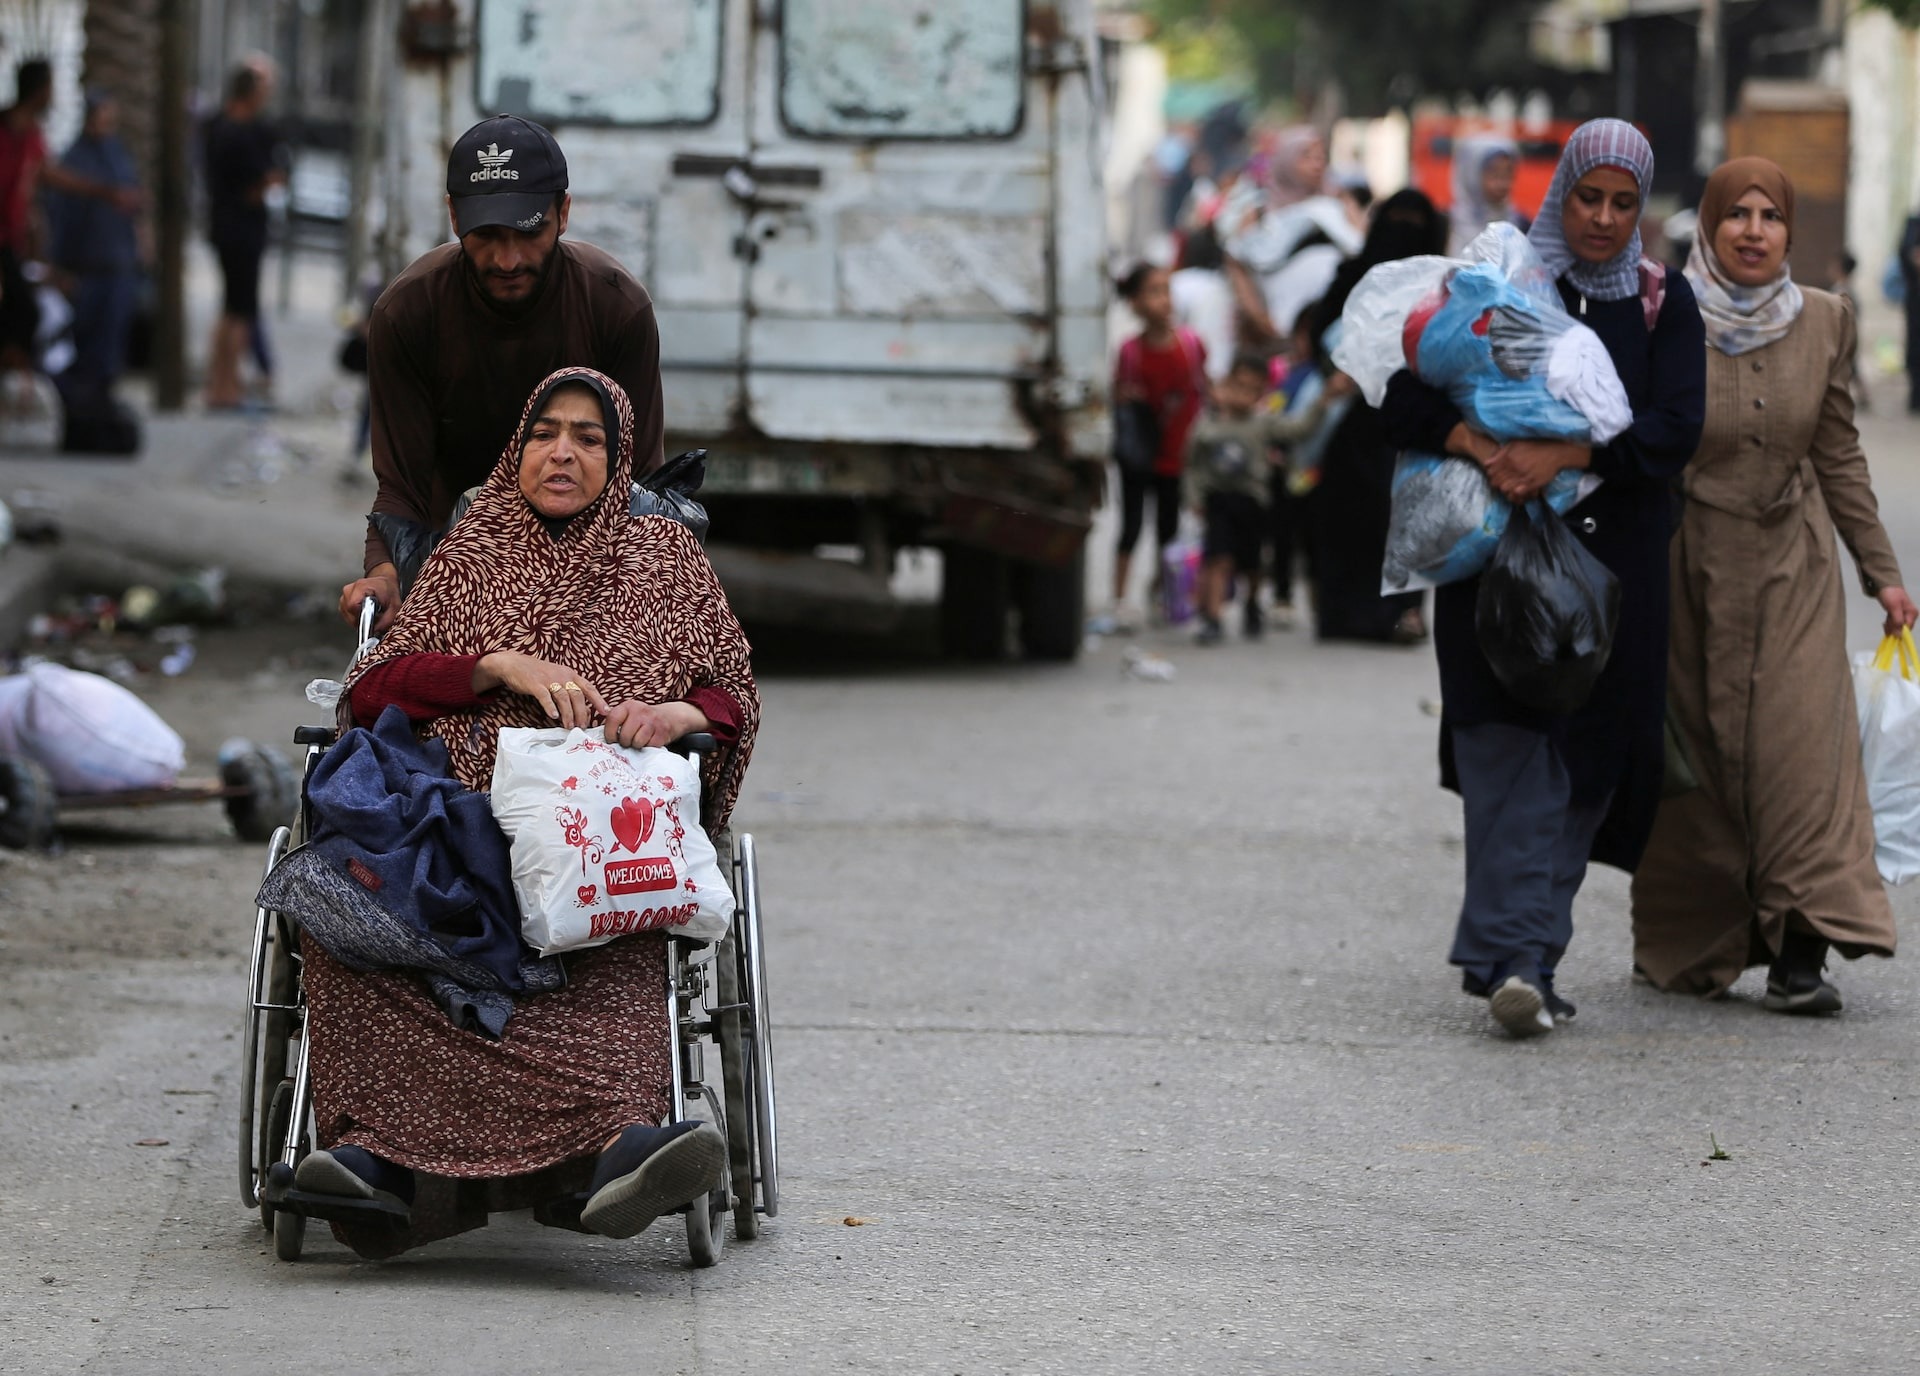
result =
[[[540,296],[520,313],[472,284],[459,244],[407,267],[367,320],[372,407],[372,510],[428,530],[486,480],[513,439],[526,399],[549,372],[599,368],[634,401],[636,472],[662,459],[660,332],[653,299],[618,259],[561,240]],[[367,530],[367,568],[388,562]]]

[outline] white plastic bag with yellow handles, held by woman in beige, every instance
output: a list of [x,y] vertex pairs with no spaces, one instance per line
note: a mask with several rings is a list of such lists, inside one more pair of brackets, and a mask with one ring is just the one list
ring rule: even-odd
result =
[[1914,633],[1853,656],[1860,762],[1874,804],[1874,862],[1889,885],[1920,879],[1920,651]]

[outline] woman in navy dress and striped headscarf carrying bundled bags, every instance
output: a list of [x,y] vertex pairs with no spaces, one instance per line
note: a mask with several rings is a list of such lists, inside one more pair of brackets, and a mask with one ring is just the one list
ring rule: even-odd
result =
[[1553,971],[1572,938],[1574,894],[1594,860],[1632,871],[1661,795],[1672,482],[1699,445],[1707,355],[1686,278],[1642,257],[1651,180],[1647,140],[1624,121],[1594,119],[1567,140],[1528,232],[1567,309],[1613,357],[1634,407],[1624,434],[1592,447],[1500,445],[1411,372],[1394,376],[1382,407],[1396,443],[1473,459],[1511,501],[1563,468],[1601,480],[1565,514],[1620,580],[1613,658],[1580,710],[1534,712],[1500,685],[1475,635],[1478,580],[1434,595],[1442,781],[1467,814],[1452,961],[1515,1036],[1572,1017]]

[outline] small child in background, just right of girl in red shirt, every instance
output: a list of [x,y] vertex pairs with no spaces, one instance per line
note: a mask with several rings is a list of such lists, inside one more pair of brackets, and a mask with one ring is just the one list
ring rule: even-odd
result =
[[1263,407],[1267,361],[1240,355],[1227,376],[1213,384],[1213,405],[1187,439],[1187,505],[1198,512],[1206,566],[1200,576],[1200,645],[1225,635],[1221,614],[1238,578],[1246,589],[1240,628],[1248,639],[1265,629],[1260,610],[1260,551],[1265,543],[1271,474],[1284,461],[1281,445],[1313,434],[1327,407],[1348,395],[1354,382],[1334,374],[1311,405],[1288,413]]

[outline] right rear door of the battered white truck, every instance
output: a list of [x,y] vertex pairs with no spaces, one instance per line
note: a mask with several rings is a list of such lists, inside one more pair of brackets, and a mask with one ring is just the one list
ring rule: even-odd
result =
[[745,401],[776,439],[1027,449],[1052,353],[1023,0],[783,0],[753,36]]

